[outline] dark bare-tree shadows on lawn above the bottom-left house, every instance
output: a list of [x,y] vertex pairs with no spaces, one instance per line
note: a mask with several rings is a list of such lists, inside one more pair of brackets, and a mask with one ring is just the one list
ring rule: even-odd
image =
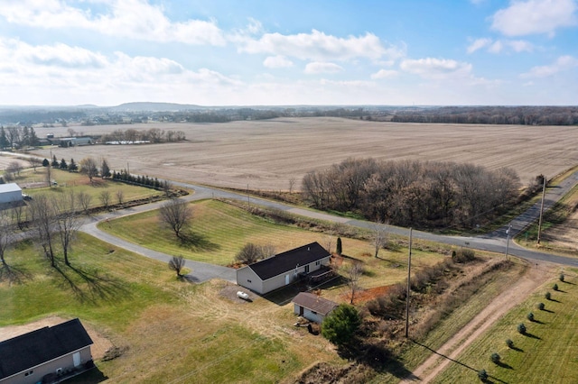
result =
[[114,302],[119,297],[131,296],[124,281],[107,276],[100,270],[88,270],[74,266],[66,268],[60,264],[57,264],[54,270],[60,273],[64,282],[68,283],[72,292],[81,302],[96,303],[98,300]]

